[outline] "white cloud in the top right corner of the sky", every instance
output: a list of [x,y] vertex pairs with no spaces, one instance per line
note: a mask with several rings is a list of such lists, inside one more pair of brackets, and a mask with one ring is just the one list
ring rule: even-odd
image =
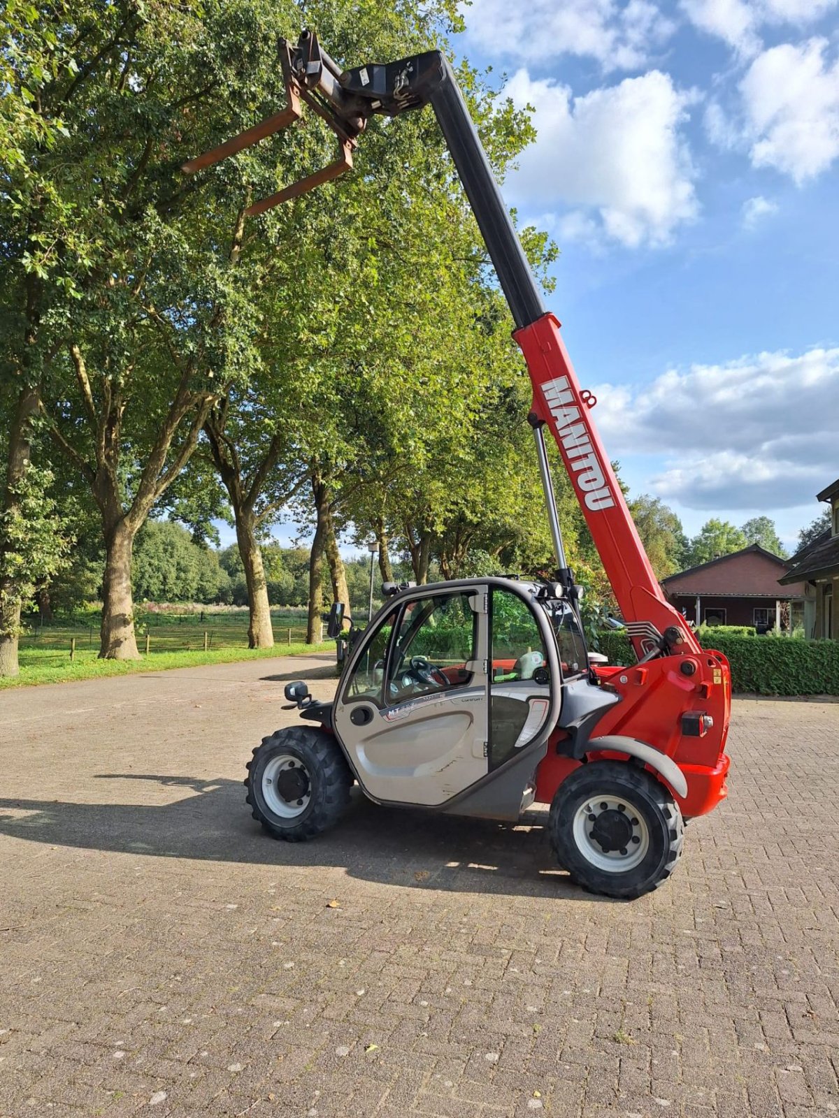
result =
[[839,0],[681,0],[680,8],[695,27],[724,39],[741,55],[761,47],[764,27],[813,23]]

